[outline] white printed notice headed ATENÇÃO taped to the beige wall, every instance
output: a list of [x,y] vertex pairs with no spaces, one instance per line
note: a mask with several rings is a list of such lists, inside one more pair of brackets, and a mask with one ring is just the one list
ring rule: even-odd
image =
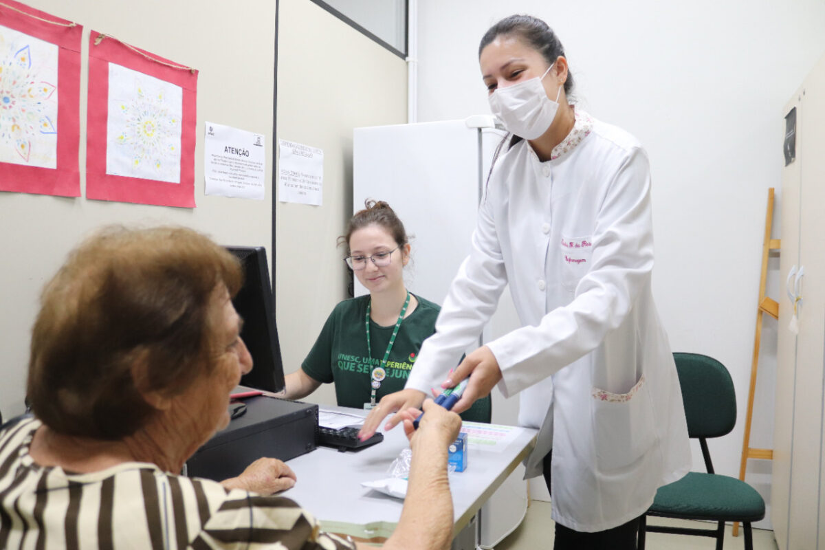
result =
[[263,200],[266,195],[265,137],[262,134],[206,122],[206,195]]

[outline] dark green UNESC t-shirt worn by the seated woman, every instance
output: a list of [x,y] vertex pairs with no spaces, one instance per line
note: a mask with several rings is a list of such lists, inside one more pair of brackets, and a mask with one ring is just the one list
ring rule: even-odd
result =
[[[416,296],[418,306],[398,327],[393,350],[385,365],[387,376],[375,394],[375,400],[404,388],[413,369],[422,342],[436,331],[436,317],[441,308]],[[304,372],[323,383],[335,383],[335,395],[341,407],[363,408],[370,402],[370,373],[384,358],[395,325],[381,327],[370,320],[370,345],[366,350],[365,317],[369,294],[344,300],[335,306],[324,323],[321,334],[301,364]]]

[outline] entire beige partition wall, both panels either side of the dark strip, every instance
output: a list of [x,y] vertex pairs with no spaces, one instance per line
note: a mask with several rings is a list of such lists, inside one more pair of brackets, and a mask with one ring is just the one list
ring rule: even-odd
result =
[[[22,410],[31,324],[40,288],[78,240],[104,223],[180,223],[219,242],[271,248],[271,193],[266,200],[207,197],[203,192],[203,123],[232,125],[267,140],[271,182],[275,2],[97,2],[29,0],[32,7],[84,26],[80,169],[85,195],[87,40],[106,32],[200,70],[196,128],[196,209],[107,203],[85,198],[0,193],[0,411]],[[323,321],[346,293],[335,239],[351,213],[352,129],[403,123],[403,59],[376,45],[309,0],[280,5],[278,137],[323,148],[323,206],[276,208],[276,309],[285,369],[298,368]],[[2,19],[0,19],[2,24]],[[330,388],[314,396],[334,401]]]

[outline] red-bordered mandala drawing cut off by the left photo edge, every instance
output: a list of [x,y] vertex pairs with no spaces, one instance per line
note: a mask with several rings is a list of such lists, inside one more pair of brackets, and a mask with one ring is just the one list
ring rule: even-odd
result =
[[0,2],[0,190],[80,196],[82,26]]

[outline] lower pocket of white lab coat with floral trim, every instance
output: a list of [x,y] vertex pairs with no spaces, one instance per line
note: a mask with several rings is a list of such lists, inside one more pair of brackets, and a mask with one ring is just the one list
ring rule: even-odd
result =
[[656,437],[644,375],[628,393],[592,388],[592,396],[598,470],[608,472],[636,462]]

